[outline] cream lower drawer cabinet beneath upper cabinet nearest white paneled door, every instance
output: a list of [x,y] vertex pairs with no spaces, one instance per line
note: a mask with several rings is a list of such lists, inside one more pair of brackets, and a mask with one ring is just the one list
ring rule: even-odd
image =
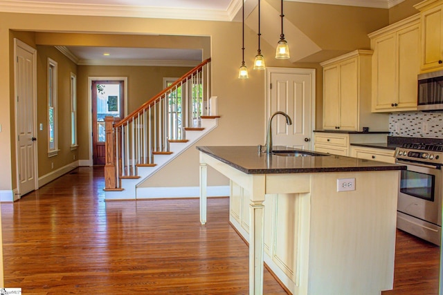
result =
[[332,155],[351,155],[350,144],[386,142],[388,133],[325,133],[314,134],[314,151]]

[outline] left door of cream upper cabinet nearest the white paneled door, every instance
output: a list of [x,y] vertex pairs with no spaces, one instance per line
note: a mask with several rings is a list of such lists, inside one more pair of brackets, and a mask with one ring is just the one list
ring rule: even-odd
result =
[[334,130],[339,125],[338,66],[323,70],[323,129]]

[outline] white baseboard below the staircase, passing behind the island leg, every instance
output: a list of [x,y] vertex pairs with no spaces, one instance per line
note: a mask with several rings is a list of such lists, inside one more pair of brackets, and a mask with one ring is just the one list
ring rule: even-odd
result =
[[[208,197],[226,197],[230,190],[228,185],[207,187]],[[195,198],[200,195],[199,187],[137,187],[137,199],[152,198]]]

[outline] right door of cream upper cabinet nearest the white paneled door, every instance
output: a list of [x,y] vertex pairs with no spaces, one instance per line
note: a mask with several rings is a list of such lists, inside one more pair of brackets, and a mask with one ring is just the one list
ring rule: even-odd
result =
[[340,64],[340,130],[356,131],[358,116],[359,81],[358,59]]

